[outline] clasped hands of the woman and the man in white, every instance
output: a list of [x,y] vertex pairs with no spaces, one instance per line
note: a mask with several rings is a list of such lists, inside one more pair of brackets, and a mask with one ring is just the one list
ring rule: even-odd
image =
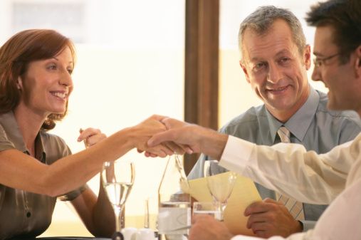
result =
[[147,157],[202,152],[219,159],[228,139],[214,130],[160,115],[152,115],[131,130],[133,147]]

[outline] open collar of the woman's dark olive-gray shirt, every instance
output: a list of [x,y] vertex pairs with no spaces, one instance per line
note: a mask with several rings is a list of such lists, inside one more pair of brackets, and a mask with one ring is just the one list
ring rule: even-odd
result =
[[[9,140],[14,144],[17,150],[28,153],[25,142],[23,142],[23,135],[20,132],[19,125],[16,122],[14,113],[12,111],[0,115],[0,124],[4,126],[6,135]],[[41,130],[42,131],[42,130]],[[46,152],[44,151],[43,138],[41,137],[41,131],[36,136],[36,152],[41,152],[41,155],[37,154],[37,158],[41,162],[45,162]]]

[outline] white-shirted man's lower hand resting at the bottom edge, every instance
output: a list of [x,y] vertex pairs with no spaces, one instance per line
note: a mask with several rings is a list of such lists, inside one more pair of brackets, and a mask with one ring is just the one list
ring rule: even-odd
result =
[[192,217],[189,240],[229,240],[233,237],[226,225],[209,215]]

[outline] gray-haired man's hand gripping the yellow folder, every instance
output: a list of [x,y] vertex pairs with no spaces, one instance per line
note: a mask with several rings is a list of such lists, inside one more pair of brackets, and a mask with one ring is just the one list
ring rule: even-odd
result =
[[273,199],[264,199],[263,202],[254,202],[244,211],[249,216],[247,228],[262,238],[279,235],[287,237],[302,231],[299,221],[293,219],[288,209]]

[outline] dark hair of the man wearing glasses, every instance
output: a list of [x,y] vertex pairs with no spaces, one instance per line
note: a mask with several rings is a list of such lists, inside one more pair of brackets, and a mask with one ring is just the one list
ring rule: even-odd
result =
[[340,63],[350,60],[361,45],[361,0],[330,0],[311,6],[305,20],[310,26],[331,26],[333,43],[338,46]]

